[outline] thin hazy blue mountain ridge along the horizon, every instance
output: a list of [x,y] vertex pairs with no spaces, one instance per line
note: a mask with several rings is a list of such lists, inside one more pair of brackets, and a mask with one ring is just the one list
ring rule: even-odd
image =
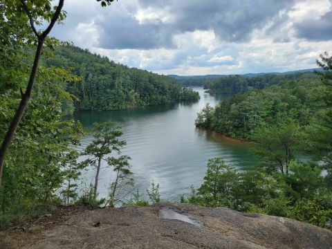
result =
[[[240,74],[241,76],[260,76],[260,75],[287,75],[287,74],[293,74],[293,73],[310,73],[313,71],[322,71],[322,68],[308,68],[308,69],[301,69],[301,70],[296,70],[296,71],[286,71],[286,72],[270,72],[270,73],[244,73],[244,74]],[[230,75],[237,75],[237,74],[230,74]],[[187,76],[183,76],[183,75],[167,75],[169,77],[173,77],[176,80],[186,80],[186,79],[214,79],[214,78],[218,78],[218,77],[227,77],[229,75],[187,75]]]

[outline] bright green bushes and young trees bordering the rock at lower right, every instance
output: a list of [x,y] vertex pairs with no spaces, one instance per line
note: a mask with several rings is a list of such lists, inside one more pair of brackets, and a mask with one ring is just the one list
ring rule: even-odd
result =
[[305,221],[322,227],[332,219],[332,192],[322,169],[291,161],[289,174],[236,172],[221,158],[208,161],[204,182],[181,203],[225,207]]

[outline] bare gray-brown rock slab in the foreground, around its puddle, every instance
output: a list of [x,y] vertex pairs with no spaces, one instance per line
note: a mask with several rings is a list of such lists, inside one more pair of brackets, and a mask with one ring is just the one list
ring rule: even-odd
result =
[[[203,225],[160,218],[165,207]],[[194,205],[87,210],[41,235],[24,248],[332,248],[332,232],[314,225]]]

